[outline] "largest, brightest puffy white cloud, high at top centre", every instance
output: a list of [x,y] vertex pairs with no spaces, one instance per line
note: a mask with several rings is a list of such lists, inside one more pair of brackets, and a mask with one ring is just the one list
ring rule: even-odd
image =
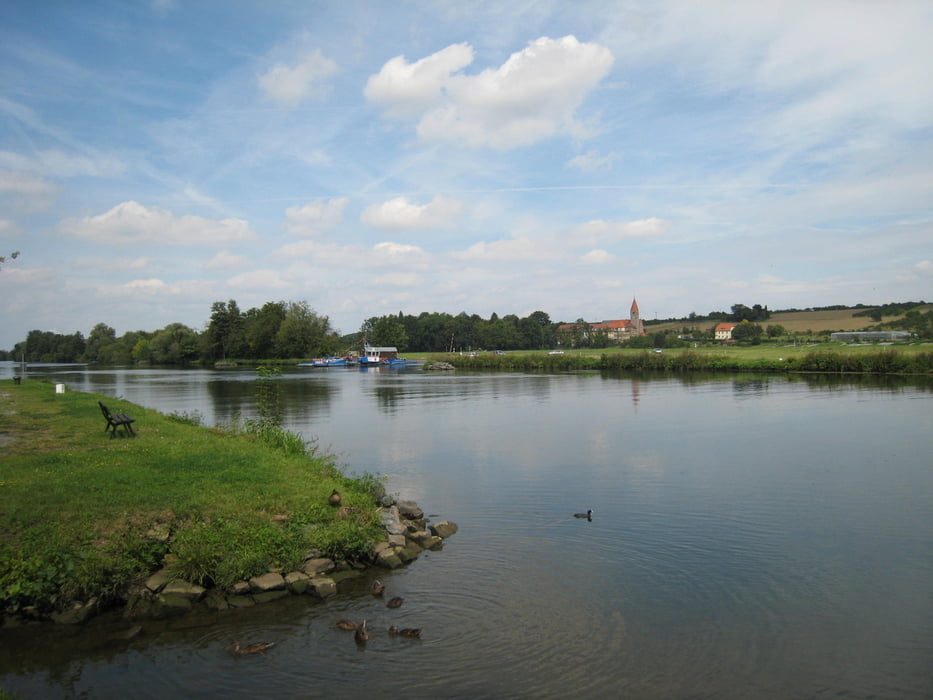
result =
[[576,110],[613,63],[609,49],[573,36],[542,37],[498,68],[460,73],[472,60],[467,44],[415,63],[399,56],[370,78],[365,94],[392,118],[420,115],[417,132],[425,141],[507,150],[557,133],[583,134]]

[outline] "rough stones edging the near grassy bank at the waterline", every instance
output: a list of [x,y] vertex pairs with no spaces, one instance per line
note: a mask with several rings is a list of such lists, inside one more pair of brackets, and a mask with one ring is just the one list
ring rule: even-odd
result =
[[[457,532],[457,525],[447,520],[429,524],[424,512],[412,501],[379,508],[378,514],[386,536],[373,548],[369,562],[334,561],[310,550],[300,569],[268,571],[240,581],[230,590],[205,588],[184,581],[176,578],[169,567],[163,567],[128,591],[123,617],[139,621],[162,619],[184,615],[200,606],[209,610],[248,608],[289,595],[313,595],[326,600],[337,594],[341,582],[362,576],[372,567],[396,569],[404,566],[425,550],[442,549],[444,541]],[[81,624],[102,609],[101,601],[92,598],[76,602],[48,619],[59,624]],[[4,624],[16,624],[16,621],[7,619]]]

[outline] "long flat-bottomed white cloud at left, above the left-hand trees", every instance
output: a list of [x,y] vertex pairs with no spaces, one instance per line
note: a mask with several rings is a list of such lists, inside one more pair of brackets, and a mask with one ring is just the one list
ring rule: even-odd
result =
[[97,216],[63,221],[59,230],[100,243],[224,244],[254,237],[243,219],[216,221],[200,216],[176,216],[134,201],[122,202]]

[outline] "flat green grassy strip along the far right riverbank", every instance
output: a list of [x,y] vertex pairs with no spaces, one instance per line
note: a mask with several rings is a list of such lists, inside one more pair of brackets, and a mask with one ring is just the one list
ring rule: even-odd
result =
[[846,372],[866,374],[931,374],[930,346],[851,347],[835,345],[750,346],[647,350],[572,350],[563,354],[515,352],[506,354],[433,355],[431,360],[475,370],[656,370],[741,372]]

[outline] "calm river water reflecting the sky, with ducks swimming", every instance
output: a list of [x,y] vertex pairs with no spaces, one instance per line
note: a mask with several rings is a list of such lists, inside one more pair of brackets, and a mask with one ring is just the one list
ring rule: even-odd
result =
[[[252,371],[37,374],[205,424],[255,415]],[[459,525],[383,577],[405,604],[387,610],[361,582],[130,641],[117,616],[6,630],[0,689],[933,697],[929,380],[292,368],[278,385],[286,427]],[[368,620],[365,649],[335,629],[343,617]],[[233,657],[234,640],[277,646]]]

